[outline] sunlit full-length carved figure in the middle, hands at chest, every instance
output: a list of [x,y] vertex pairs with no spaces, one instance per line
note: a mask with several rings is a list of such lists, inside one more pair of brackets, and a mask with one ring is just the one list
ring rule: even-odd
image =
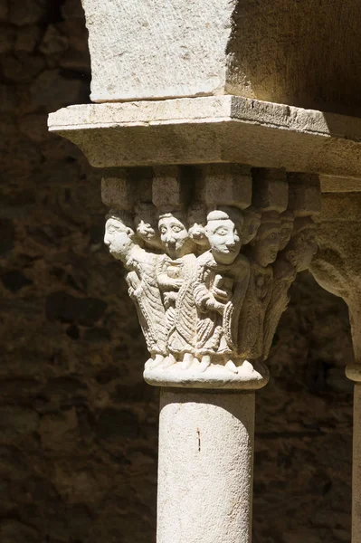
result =
[[167,254],[160,257],[157,281],[166,308],[169,363],[183,357],[193,361],[195,343],[195,300],[191,289],[195,266],[195,243],[190,238],[183,214],[159,216],[159,232]]

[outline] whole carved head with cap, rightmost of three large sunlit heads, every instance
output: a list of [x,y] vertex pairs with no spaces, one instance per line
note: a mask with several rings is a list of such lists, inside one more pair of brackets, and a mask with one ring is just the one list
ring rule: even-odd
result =
[[216,262],[232,264],[241,251],[243,216],[235,207],[220,207],[207,215],[205,234]]

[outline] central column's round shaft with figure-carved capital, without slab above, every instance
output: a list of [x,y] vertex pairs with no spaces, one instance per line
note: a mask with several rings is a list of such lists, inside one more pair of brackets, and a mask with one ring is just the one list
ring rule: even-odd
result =
[[290,284],[316,251],[317,176],[240,164],[106,176],[105,243],[128,271],[161,386],[158,543],[249,543],[254,391]]

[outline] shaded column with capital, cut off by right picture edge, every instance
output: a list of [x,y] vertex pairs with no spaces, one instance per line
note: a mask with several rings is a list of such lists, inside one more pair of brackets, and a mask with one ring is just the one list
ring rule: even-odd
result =
[[[338,184],[338,190],[341,188]],[[355,187],[355,186],[354,186]],[[319,216],[319,250],[311,271],[327,291],[347,302],[355,362],[346,375],[355,382],[352,476],[352,542],[361,542],[361,195],[323,195]]]

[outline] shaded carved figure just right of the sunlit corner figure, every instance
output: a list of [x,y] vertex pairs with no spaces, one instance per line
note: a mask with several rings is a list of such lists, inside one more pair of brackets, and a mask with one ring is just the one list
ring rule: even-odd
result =
[[239,323],[239,350],[242,356],[257,360],[262,354],[263,326],[271,300],[273,270],[280,246],[280,215],[266,211],[247,252],[251,262],[249,288]]

